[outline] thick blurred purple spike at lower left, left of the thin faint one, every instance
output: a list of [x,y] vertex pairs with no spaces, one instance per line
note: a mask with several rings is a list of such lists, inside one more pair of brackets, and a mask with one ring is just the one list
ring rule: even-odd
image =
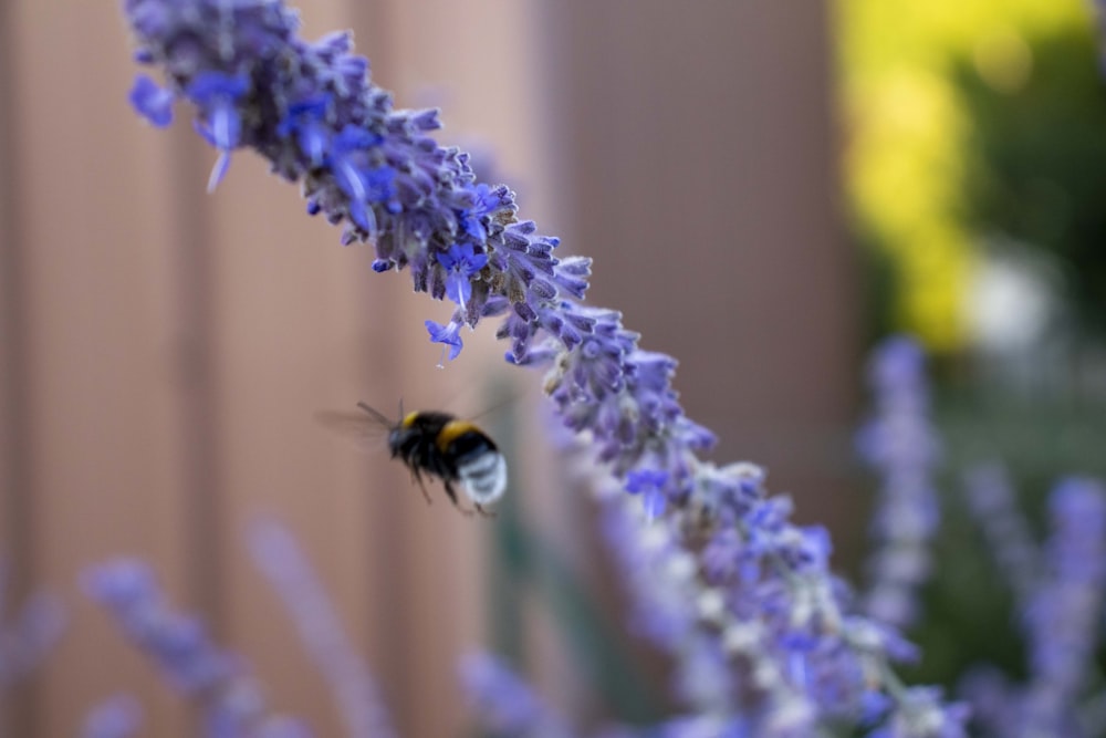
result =
[[170,610],[142,561],[117,559],[90,569],[84,588],[170,684],[196,701],[209,738],[311,736],[298,721],[270,714],[244,662],[219,649],[199,621]]

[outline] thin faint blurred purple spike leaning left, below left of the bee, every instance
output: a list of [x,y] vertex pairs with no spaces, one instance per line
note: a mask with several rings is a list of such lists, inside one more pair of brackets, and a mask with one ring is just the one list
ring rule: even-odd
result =
[[249,530],[250,553],[281,596],[300,638],[326,677],[349,738],[393,738],[388,711],[364,662],[292,534],[272,520]]

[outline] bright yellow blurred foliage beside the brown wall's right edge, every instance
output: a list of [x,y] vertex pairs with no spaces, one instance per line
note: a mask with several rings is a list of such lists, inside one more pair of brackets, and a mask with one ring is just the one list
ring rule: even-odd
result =
[[896,272],[899,330],[963,345],[977,233],[961,207],[973,166],[957,65],[998,92],[1033,73],[1032,40],[1086,25],[1082,0],[841,0],[845,175],[858,226]]

